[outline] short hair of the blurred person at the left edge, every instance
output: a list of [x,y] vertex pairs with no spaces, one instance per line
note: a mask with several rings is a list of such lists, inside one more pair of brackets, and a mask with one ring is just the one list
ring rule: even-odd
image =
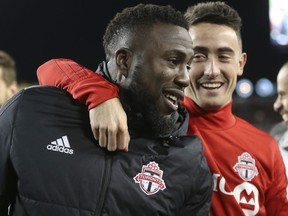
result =
[[2,68],[2,79],[7,86],[12,85],[17,79],[16,64],[14,59],[0,50],[0,68]]

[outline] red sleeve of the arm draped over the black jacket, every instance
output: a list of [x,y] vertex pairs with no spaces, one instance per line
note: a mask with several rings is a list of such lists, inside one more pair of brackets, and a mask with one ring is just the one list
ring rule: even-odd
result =
[[118,87],[101,75],[70,59],[52,59],[37,69],[40,85],[67,90],[88,109],[111,98],[118,97]]

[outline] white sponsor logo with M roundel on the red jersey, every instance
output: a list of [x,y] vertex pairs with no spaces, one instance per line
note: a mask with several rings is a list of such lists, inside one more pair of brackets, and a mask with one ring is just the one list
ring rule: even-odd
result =
[[222,192],[225,195],[234,196],[245,215],[257,215],[259,211],[259,191],[249,182],[242,182],[233,191],[226,190],[226,180],[220,178],[220,174],[213,174],[213,191]]

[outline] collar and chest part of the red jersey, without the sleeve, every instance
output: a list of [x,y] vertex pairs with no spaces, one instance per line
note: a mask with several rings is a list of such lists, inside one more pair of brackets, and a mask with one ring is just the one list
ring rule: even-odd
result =
[[287,179],[272,136],[232,114],[205,112],[190,98],[188,133],[203,140],[214,179],[211,215],[288,215]]

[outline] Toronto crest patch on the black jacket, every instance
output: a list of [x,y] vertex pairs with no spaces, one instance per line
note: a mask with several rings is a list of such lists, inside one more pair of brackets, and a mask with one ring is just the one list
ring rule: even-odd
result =
[[138,173],[133,179],[135,183],[139,184],[141,190],[146,195],[152,195],[166,188],[162,175],[163,171],[153,161],[147,165],[143,165],[141,173]]

